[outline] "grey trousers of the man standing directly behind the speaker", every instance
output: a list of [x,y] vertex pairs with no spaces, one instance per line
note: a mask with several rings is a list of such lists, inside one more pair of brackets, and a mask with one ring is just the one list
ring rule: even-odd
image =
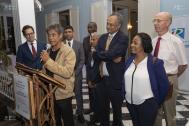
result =
[[82,73],[75,77],[74,93],[77,106],[76,114],[83,114]]

